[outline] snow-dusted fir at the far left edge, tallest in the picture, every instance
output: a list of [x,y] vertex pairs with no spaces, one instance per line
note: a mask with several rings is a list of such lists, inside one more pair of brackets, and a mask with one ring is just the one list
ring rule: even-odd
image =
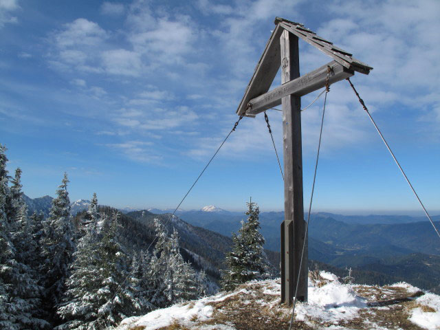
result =
[[[35,273],[25,261],[32,248],[14,247],[14,240],[30,240],[17,223],[25,225],[27,210],[21,197],[20,175],[17,170],[12,188],[8,188],[6,148],[0,144],[0,328],[43,329],[47,322],[38,318],[40,287]],[[8,214],[14,219],[8,219]],[[24,230],[22,232],[22,230]],[[32,247],[32,241],[26,241]]]

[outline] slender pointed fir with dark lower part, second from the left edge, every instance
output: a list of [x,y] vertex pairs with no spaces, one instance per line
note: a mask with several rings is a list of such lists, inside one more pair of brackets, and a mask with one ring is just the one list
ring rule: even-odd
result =
[[56,316],[56,308],[65,292],[65,281],[70,276],[69,266],[74,260],[76,250],[74,225],[70,215],[69,192],[67,192],[67,174],[52,200],[50,217],[43,224],[41,238],[42,257],[44,259],[42,280],[45,289],[45,308]]

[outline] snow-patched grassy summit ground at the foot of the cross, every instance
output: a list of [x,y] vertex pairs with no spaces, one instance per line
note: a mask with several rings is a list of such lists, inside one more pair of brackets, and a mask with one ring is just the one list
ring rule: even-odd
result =
[[[118,330],[280,330],[280,279],[252,281],[233,292],[126,318]],[[328,272],[309,273],[309,302],[298,303],[294,329],[440,329],[440,296],[407,283],[345,285]]]

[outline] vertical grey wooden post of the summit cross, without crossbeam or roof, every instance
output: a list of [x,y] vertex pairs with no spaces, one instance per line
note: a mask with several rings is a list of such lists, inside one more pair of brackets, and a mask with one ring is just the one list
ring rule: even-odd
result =
[[[281,43],[281,83],[300,76],[298,37],[283,31]],[[301,272],[301,252],[305,237],[303,206],[303,151],[301,142],[301,98],[285,96],[283,104],[284,212],[281,225],[281,303],[290,305],[298,274],[298,300],[307,301],[307,245]]]

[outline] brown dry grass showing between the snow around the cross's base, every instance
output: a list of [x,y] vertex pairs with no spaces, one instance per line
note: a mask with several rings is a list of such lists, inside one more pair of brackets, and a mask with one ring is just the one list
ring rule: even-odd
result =
[[[317,287],[329,283],[322,278],[319,272],[311,274],[311,280]],[[279,283],[278,283],[279,285]],[[243,292],[239,292],[243,289]],[[200,320],[197,315],[192,316],[190,324],[179,324],[177,320],[168,327],[159,330],[189,330],[203,325],[229,325],[236,330],[279,330],[289,328],[290,307],[280,304],[280,297],[273,293],[273,283],[256,282],[241,285],[236,292],[222,301],[207,303],[212,307],[212,317],[208,320]],[[278,288],[277,288],[278,289]],[[424,312],[434,312],[432,307],[421,305],[415,301],[420,293],[410,294],[404,287],[367,287],[353,285],[353,289],[359,296],[365,297],[370,302],[369,307],[360,309],[358,316],[351,320],[342,319],[338,322],[322,322],[319,318],[309,318],[307,323],[295,322],[294,329],[311,330],[324,329],[331,326],[344,327],[353,330],[377,329],[405,329],[421,330],[408,320],[411,310],[421,308]],[[385,305],[376,305],[376,303]],[[188,303],[193,307],[194,302]],[[135,327],[131,330],[144,330],[144,327]]]

